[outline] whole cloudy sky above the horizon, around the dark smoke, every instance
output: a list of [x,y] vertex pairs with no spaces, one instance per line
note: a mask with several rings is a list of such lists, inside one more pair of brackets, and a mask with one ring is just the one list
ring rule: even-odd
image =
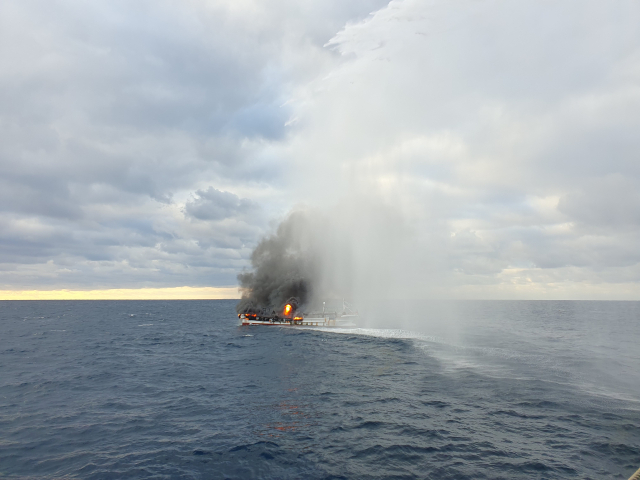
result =
[[392,296],[640,300],[639,24],[630,0],[1,2],[0,298],[234,297],[315,209]]

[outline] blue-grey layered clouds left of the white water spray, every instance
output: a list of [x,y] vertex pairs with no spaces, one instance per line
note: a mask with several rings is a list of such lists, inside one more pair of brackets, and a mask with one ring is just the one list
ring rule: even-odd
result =
[[293,85],[383,5],[3,3],[0,284],[235,283],[289,206]]

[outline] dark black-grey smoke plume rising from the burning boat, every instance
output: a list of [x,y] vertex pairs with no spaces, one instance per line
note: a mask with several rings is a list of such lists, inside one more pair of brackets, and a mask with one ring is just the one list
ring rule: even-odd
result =
[[260,241],[251,254],[252,270],[238,275],[238,313],[278,311],[291,297],[300,307],[311,301],[320,273],[317,220],[309,212],[291,213],[274,235]]

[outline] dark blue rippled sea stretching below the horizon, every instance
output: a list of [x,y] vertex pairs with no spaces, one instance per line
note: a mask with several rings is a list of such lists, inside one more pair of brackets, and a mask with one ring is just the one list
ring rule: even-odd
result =
[[332,331],[238,327],[234,306],[0,302],[0,478],[640,467],[640,303],[413,305]]

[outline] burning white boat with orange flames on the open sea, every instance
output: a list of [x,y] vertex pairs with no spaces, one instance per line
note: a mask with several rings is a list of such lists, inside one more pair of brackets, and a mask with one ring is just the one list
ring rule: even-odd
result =
[[238,314],[241,325],[280,325],[289,327],[355,327],[358,312],[342,301],[342,311],[327,311],[325,302],[322,312],[303,312],[298,307],[298,300],[290,298],[285,305],[271,312],[246,311]]

